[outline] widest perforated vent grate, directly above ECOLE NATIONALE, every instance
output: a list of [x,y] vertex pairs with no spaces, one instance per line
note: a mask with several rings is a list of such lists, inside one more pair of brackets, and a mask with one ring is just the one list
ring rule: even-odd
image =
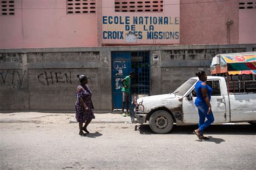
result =
[[163,12],[163,1],[114,0],[115,12]]

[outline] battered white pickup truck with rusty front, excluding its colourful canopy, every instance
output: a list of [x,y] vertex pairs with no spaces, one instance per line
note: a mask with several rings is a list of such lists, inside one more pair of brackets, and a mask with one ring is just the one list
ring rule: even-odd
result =
[[[135,117],[138,123],[149,121],[155,133],[168,133],[177,125],[198,124],[198,109],[193,94],[198,77],[192,77],[170,94],[138,98]],[[228,81],[223,76],[207,76],[212,87],[211,97],[214,123],[256,123],[256,81]],[[246,85],[247,84],[247,85]]]

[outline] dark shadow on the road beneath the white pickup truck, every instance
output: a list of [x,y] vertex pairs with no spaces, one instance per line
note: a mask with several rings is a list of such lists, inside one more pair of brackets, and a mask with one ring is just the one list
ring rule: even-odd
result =
[[[173,125],[173,128],[170,133],[171,134],[193,134],[192,131],[198,129],[198,125],[187,125],[187,126],[177,126]],[[154,133],[148,124],[140,125],[139,128],[140,134],[156,134]],[[207,134],[238,134],[238,135],[248,135],[248,134],[256,134],[255,126],[250,124],[241,124],[241,125],[223,125],[223,124],[215,124],[209,126],[205,132]],[[194,134],[193,134],[194,135]]]

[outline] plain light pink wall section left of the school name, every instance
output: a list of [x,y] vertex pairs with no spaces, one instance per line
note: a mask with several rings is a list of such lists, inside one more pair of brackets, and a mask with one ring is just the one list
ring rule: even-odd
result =
[[97,46],[96,13],[66,14],[66,0],[17,0],[0,16],[0,48]]

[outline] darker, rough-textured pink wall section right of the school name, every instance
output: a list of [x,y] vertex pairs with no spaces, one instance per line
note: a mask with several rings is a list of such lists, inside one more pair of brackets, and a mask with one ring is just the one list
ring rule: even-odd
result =
[[228,19],[230,44],[238,44],[238,0],[180,0],[180,44],[227,44]]

